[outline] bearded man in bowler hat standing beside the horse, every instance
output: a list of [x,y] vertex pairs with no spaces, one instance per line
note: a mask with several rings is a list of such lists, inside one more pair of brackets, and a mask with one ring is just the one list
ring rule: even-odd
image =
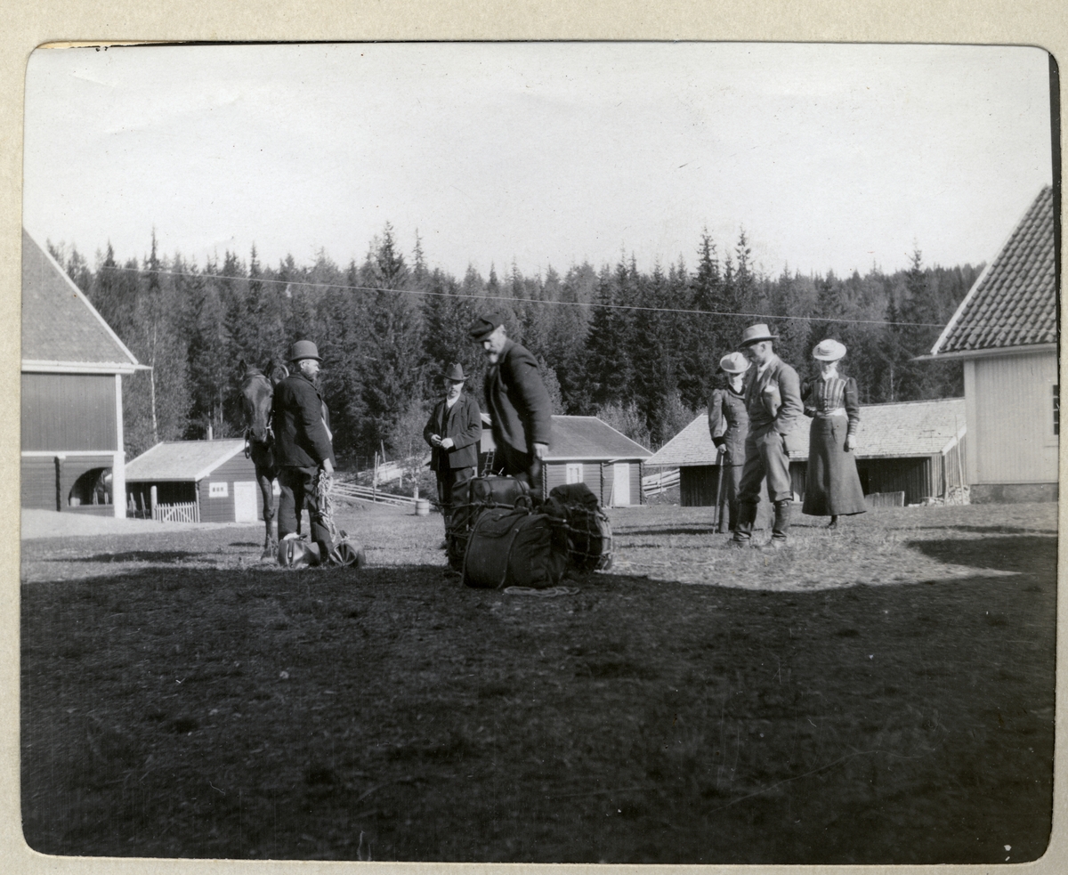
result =
[[289,349],[296,372],[274,387],[274,458],[282,495],[278,506],[278,540],[298,531],[301,511],[307,507],[312,524],[312,541],[326,558],[333,548],[330,530],[319,507],[316,480],[319,471],[333,475],[333,435],[330,411],[315,386],[319,373],[319,350],[311,341],[297,341]]

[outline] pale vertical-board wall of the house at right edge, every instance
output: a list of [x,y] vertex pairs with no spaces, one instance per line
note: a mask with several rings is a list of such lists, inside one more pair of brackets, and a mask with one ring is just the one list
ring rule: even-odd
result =
[[970,483],[1056,482],[1056,382],[1054,353],[964,361]]

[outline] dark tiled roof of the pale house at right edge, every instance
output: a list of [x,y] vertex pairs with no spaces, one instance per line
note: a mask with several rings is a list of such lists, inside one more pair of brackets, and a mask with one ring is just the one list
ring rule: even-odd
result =
[[1046,186],[946,325],[932,354],[1055,343],[1053,189]]

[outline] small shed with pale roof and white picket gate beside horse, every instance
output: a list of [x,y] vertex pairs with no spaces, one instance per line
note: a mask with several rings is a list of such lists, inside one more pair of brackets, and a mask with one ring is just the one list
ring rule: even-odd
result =
[[185,522],[263,518],[256,469],[240,438],[157,443],[126,466],[126,490],[130,516]]

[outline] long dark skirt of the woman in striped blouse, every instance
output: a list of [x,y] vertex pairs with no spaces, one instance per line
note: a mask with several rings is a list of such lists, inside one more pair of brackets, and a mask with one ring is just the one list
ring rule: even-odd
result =
[[857,473],[857,456],[846,452],[848,426],[849,421],[843,416],[813,419],[801,513],[845,516],[867,510]]

